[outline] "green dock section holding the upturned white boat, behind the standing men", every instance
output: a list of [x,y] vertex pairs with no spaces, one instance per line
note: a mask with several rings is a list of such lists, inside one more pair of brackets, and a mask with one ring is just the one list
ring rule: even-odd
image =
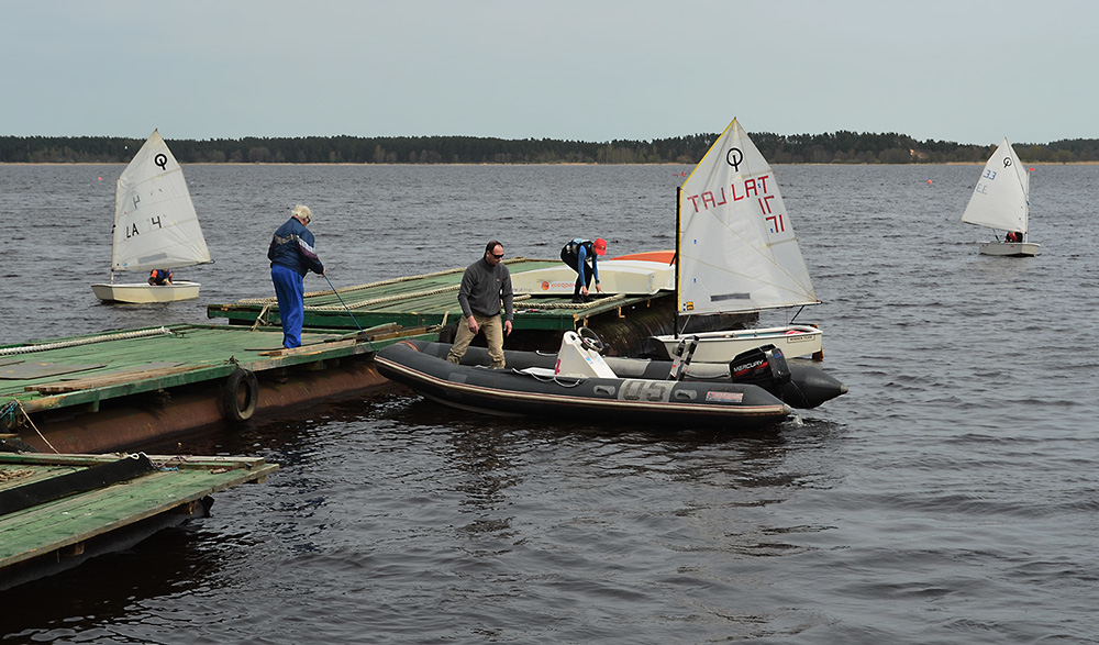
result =
[[[560,266],[560,260],[512,258],[504,260],[512,275]],[[402,326],[441,326],[442,340],[462,319],[458,287],[465,267],[409,276],[335,291],[306,293],[307,327],[356,330],[384,323]],[[671,292],[652,296],[609,296],[576,303],[570,297],[515,296],[512,337],[515,349],[556,349],[564,331],[590,326],[622,354],[637,347],[639,338],[670,331],[675,298]],[[349,310],[349,311],[348,311]],[[249,298],[233,303],[209,304],[207,315],[232,324],[278,324],[278,304],[271,298]],[[619,323],[632,319],[618,330]],[[643,320],[642,320],[643,319]]]

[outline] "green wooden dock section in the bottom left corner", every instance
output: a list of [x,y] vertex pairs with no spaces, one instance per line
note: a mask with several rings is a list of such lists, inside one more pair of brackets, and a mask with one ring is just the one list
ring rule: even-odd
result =
[[249,457],[0,453],[0,589],[132,546],[277,469]]

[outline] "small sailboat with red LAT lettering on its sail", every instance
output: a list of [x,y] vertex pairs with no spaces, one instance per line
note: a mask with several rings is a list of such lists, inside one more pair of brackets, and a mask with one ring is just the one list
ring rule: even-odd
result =
[[[679,332],[685,316],[820,302],[778,181],[736,119],[678,193],[676,333],[654,337],[669,355],[684,341]],[[697,338],[690,359],[725,363],[766,344],[788,357],[819,355],[823,334],[813,325],[787,324],[688,335]]]

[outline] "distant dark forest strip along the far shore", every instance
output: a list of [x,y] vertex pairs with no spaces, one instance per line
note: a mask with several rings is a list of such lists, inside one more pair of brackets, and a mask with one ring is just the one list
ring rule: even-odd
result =
[[[169,140],[182,164],[697,164],[718,134],[589,143],[475,136],[245,137]],[[771,164],[984,163],[996,145],[915,141],[896,133],[751,134]],[[4,136],[0,163],[129,163],[144,140],[109,136]],[[1099,162],[1099,140],[1012,144],[1029,164]]]

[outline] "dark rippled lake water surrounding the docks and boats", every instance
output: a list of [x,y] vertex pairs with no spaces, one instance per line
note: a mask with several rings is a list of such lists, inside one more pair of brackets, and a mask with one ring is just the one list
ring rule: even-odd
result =
[[[218,264],[182,271],[199,302],[149,308],[88,288],[120,166],[0,167],[0,343],[268,296],[299,201],[337,287],[464,266],[490,237],[670,248],[684,169],[187,167]],[[1099,642],[1099,166],[1035,168],[1028,259],[978,256],[958,222],[978,166],[776,171],[850,394],[747,440],[401,391],[196,437],[178,447],[282,468],[0,593],[4,642]]]

